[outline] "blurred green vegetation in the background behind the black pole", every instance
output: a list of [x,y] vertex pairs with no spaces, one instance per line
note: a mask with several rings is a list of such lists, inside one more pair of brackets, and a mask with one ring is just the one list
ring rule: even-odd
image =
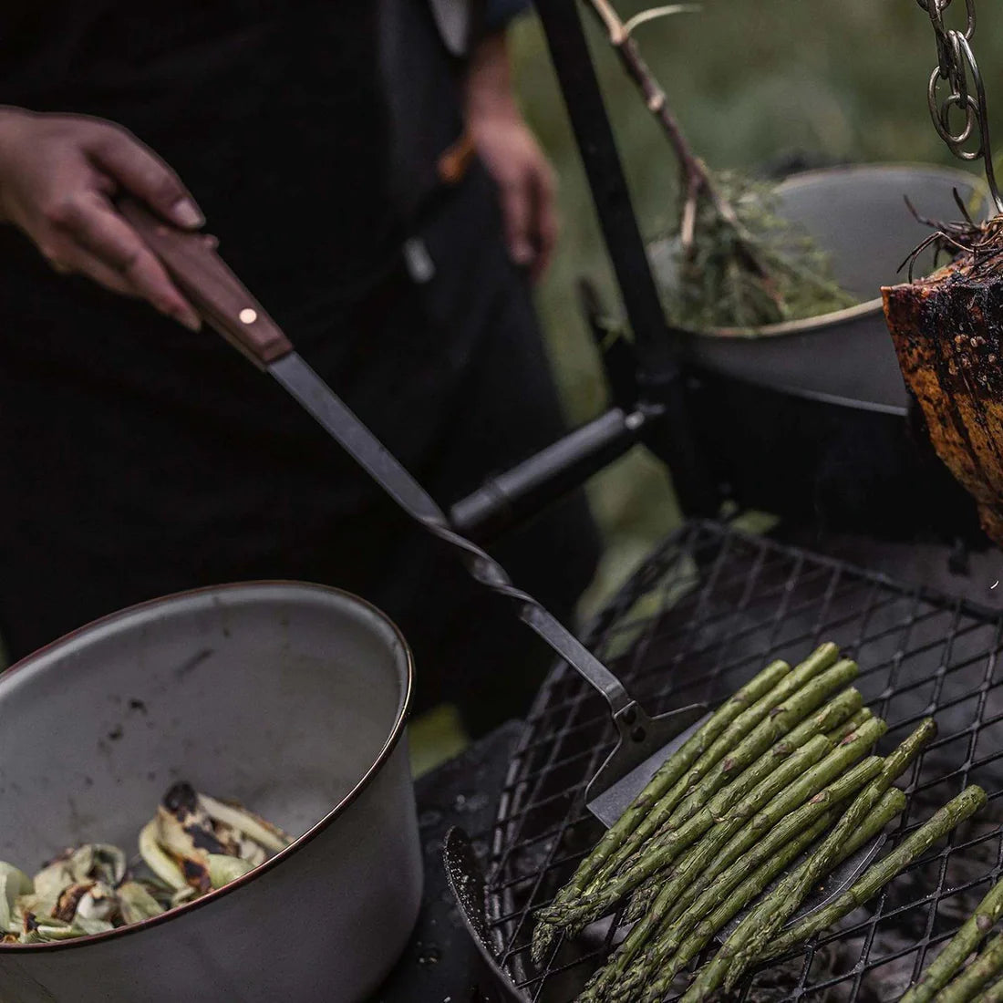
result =
[[[615,0],[624,19],[650,5]],[[963,7],[955,4],[952,17]],[[675,163],[595,18],[585,3],[580,9],[642,232],[656,237],[675,225]],[[990,0],[981,0],[979,10],[974,49],[992,112],[1003,108],[1003,11]],[[926,86],[936,48],[916,0],[705,0],[699,13],[643,25],[636,39],[712,168],[756,172],[788,157],[959,165],[930,122]],[[568,413],[578,423],[598,414],[606,398],[578,308],[577,278],[593,278],[618,312],[619,303],[535,16],[517,23],[512,41],[524,109],[560,176],[562,239],[539,306]],[[586,612],[679,521],[665,472],[640,449],[595,477],[590,497],[608,550]]]

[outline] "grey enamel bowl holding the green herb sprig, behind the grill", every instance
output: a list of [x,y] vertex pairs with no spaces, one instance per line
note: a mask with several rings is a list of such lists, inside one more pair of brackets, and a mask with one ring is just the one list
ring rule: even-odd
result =
[[[786,396],[905,416],[909,395],[888,336],[881,289],[905,281],[903,259],[931,230],[909,213],[904,197],[929,219],[954,219],[960,215],[958,192],[981,215],[985,184],[956,168],[862,163],[792,175],[774,192],[778,214],[814,238],[829,256],[833,278],[863,302],[762,327],[681,329],[689,361],[711,376]],[[675,248],[670,239],[649,245],[666,292],[677,281]],[[917,261],[918,274],[933,265],[928,250]]]

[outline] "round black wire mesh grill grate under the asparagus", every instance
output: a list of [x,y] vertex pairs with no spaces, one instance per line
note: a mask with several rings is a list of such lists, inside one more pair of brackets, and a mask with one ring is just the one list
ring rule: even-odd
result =
[[[856,685],[889,723],[880,751],[933,714],[938,738],[900,781],[909,800],[889,846],[967,783],[990,796],[975,819],[838,931],[755,973],[742,999],[898,999],[999,877],[1001,632],[1003,614],[716,523],[691,523],[671,537],[599,616],[590,647],[655,713],[716,703],[771,658],[793,663],[832,640],[859,661]],[[533,911],[601,832],[584,793],[614,740],[602,699],[556,668],[513,758],[487,895],[501,963],[534,1001],[573,1000],[618,934],[620,917],[556,945],[542,969],[530,961]]]

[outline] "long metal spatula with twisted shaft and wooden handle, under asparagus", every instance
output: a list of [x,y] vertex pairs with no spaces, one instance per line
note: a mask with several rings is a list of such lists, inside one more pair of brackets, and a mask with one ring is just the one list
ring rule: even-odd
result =
[[151,216],[138,203],[119,208],[202,316],[259,368],[275,377],[356,462],[425,530],[459,553],[470,575],[510,600],[517,616],[602,694],[620,740],[586,791],[589,808],[611,825],[671,751],[671,742],[706,711],[692,704],[650,717],[619,679],[536,599],[516,588],[485,551],[454,533],[432,497],[294,350],[203,235]]

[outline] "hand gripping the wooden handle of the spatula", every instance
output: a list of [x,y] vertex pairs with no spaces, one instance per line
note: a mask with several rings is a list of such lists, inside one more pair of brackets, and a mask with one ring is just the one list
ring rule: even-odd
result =
[[24,231],[57,272],[140,297],[198,330],[198,313],[115,210],[119,192],[186,230],[205,222],[175,173],[125,129],[98,118],[0,108],[0,223]]

